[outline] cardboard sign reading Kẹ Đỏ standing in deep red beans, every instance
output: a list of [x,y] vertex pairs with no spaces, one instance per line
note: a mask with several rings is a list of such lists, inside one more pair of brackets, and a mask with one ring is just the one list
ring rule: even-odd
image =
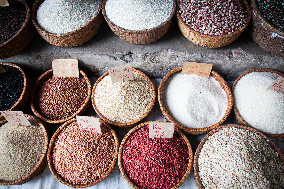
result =
[[149,138],[173,138],[174,123],[149,123]]

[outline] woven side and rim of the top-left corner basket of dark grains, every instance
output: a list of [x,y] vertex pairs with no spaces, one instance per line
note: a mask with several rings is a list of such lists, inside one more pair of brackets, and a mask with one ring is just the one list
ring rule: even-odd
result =
[[21,52],[32,40],[35,30],[30,20],[30,8],[25,0],[20,0],[26,6],[27,16],[23,26],[10,39],[0,44],[0,59],[14,56]]

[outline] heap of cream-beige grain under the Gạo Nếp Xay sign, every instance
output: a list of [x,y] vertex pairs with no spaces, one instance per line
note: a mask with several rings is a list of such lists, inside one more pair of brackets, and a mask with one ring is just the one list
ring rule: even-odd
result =
[[94,100],[101,114],[118,123],[142,117],[152,103],[153,90],[143,75],[133,72],[133,80],[112,83],[106,75],[95,89]]

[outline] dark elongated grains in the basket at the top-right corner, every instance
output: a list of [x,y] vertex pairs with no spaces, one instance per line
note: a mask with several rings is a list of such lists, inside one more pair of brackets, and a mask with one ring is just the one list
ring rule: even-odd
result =
[[284,31],[284,0],[256,0],[256,3],[264,18]]

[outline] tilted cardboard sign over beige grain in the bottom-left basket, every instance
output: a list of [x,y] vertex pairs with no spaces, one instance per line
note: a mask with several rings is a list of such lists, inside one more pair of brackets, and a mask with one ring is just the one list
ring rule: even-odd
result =
[[11,125],[31,125],[22,111],[2,112],[1,114]]

